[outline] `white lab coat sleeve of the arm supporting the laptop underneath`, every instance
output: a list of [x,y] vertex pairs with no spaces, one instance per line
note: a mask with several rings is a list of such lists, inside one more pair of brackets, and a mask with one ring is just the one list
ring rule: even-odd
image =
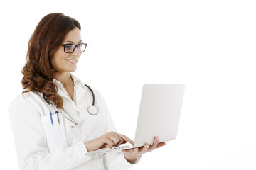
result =
[[[105,120],[106,120],[105,133],[111,132],[111,131],[117,132],[104,98],[102,98],[102,102],[105,105]],[[134,164],[137,164],[140,158],[141,157],[139,157],[137,161],[134,162]],[[129,162],[127,162],[127,160],[124,158],[123,152],[107,152],[106,154],[104,154],[103,159],[105,162],[105,165],[104,165],[105,169],[108,169],[108,170],[129,169],[132,166],[134,166],[134,164],[130,164]]]

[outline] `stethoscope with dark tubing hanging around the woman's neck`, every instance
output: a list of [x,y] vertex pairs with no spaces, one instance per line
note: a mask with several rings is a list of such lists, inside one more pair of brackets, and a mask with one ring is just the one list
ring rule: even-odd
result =
[[[86,86],[86,87],[91,91],[91,93],[92,93],[92,105],[88,106],[87,111],[88,111],[88,113],[89,113],[90,115],[97,115],[97,113],[98,113],[99,110],[98,110],[97,107],[95,106],[95,94],[93,93],[93,91],[92,91],[92,89],[90,88],[90,86],[87,86],[86,84],[85,84],[85,86]],[[59,113],[61,113],[61,114],[63,115],[63,113],[62,113],[58,108],[56,108],[56,107],[53,105],[53,103],[51,103],[51,102],[46,98],[45,94],[43,94],[43,99],[48,103],[48,105],[52,106],[56,111],[58,111]],[[62,108],[62,110],[65,111],[64,108]],[[68,120],[70,120],[70,122],[74,123],[75,125],[78,125],[78,123],[76,123],[75,120],[73,120],[73,118],[70,116],[70,114],[69,114],[67,111],[65,111],[65,113],[67,113],[67,115],[68,115],[68,117],[69,117],[69,118],[68,118],[67,116],[63,115],[65,118],[67,118]]]

